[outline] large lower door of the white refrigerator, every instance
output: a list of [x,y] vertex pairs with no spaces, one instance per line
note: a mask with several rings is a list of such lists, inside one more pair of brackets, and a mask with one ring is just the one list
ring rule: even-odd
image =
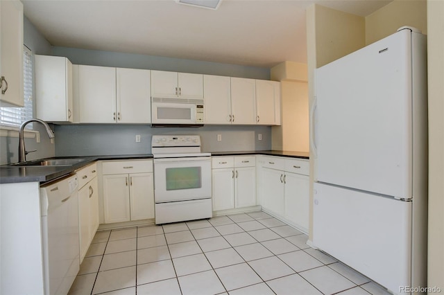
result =
[[401,293],[400,286],[411,286],[411,206],[412,202],[315,183],[313,243]]

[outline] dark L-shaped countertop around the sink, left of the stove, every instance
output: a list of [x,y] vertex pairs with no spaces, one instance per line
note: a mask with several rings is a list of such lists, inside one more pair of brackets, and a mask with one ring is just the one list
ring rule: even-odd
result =
[[85,161],[71,166],[31,166],[31,167],[6,167],[0,166],[0,184],[13,184],[19,182],[41,183],[58,179],[59,177],[69,175],[69,173],[83,168],[90,163],[98,160],[130,160],[130,159],[153,159],[152,154],[119,154],[103,156],[86,157],[53,157],[58,158],[85,158]]

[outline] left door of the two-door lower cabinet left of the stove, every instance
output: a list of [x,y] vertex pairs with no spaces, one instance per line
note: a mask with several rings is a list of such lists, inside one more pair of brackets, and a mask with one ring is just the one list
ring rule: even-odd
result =
[[103,175],[105,223],[130,221],[128,175]]

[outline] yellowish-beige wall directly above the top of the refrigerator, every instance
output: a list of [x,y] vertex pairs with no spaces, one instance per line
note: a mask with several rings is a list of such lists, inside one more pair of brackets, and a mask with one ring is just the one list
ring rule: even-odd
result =
[[395,0],[368,15],[366,17],[366,44],[393,34],[402,26],[413,26],[427,35],[426,0]]

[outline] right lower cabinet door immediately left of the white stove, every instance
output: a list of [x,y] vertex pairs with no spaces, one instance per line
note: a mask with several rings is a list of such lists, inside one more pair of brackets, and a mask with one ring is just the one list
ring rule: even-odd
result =
[[130,174],[131,220],[154,218],[153,173]]

